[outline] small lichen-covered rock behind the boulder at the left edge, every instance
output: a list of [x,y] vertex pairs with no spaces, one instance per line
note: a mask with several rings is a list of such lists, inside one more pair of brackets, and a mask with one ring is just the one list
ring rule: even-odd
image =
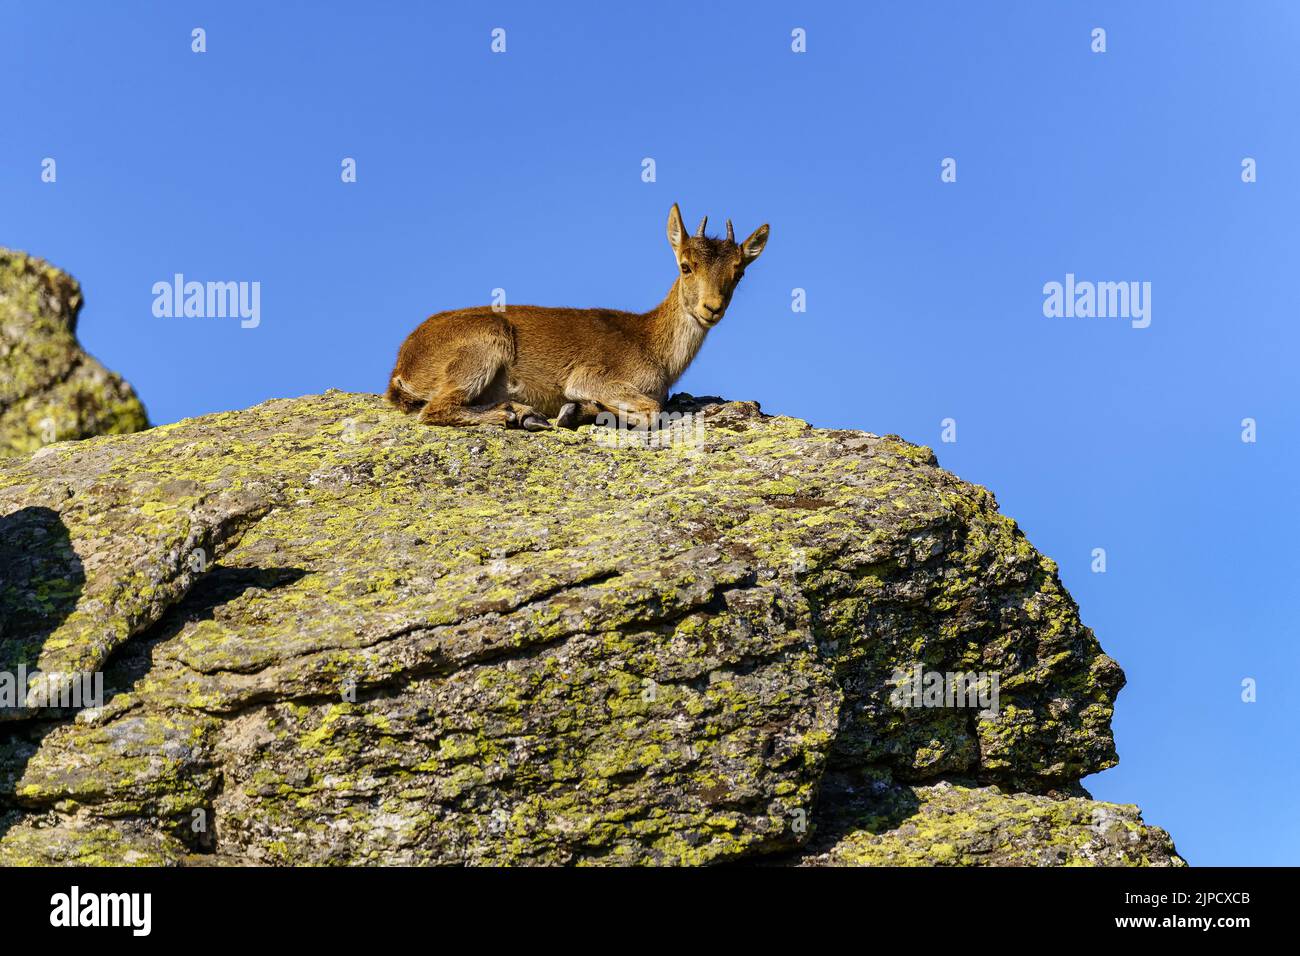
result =
[[131,386],[77,342],[81,286],[0,247],[0,457],[148,428]]

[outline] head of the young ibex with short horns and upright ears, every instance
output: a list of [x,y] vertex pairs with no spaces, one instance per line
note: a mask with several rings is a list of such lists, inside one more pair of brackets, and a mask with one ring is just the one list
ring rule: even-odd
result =
[[673,203],[668,212],[668,242],[681,273],[677,281],[681,307],[703,328],[711,329],[722,321],[745,268],[758,259],[767,245],[767,224],[737,245],[731,220],[727,220],[725,239],[705,235],[707,222],[708,216],[705,216],[696,234],[688,235],[677,204]]

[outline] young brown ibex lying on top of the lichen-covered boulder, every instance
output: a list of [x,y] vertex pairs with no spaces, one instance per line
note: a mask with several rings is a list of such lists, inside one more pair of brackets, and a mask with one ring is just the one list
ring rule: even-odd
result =
[[668,389],[716,325],[745,268],[767,243],[760,225],[737,245],[686,235],[668,213],[677,278],[645,313],[612,308],[508,306],[430,316],[398,351],[387,398],[430,425],[504,425],[537,431],[589,424],[602,411],[630,428],[654,428]]

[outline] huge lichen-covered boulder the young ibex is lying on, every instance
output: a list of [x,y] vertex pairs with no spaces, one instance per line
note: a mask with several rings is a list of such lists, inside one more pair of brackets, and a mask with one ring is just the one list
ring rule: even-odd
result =
[[[524,433],[332,392],[0,463],[0,674],[47,695],[0,722],[0,864],[939,862],[954,793],[991,848],[945,861],[1176,861],[1080,796],[1123,675],[988,492],[673,407]],[[916,665],[998,706],[896,706]],[[95,670],[101,708],[48,706]]]

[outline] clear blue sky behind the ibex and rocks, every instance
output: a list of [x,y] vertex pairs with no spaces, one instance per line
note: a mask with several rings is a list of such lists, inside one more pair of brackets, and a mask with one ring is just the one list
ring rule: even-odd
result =
[[[0,243],[82,281],[83,342],[165,423],[381,390],[498,286],[647,308],[675,200],[771,222],[681,388],[993,489],[1128,674],[1087,786],[1193,864],[1300,862],[1300,7],[542,7],[6,1]],[[177,272],[261,282],[261,325],[156,319]],[[1149,281],[1150,326],[1045,317],[1066,273]]]

